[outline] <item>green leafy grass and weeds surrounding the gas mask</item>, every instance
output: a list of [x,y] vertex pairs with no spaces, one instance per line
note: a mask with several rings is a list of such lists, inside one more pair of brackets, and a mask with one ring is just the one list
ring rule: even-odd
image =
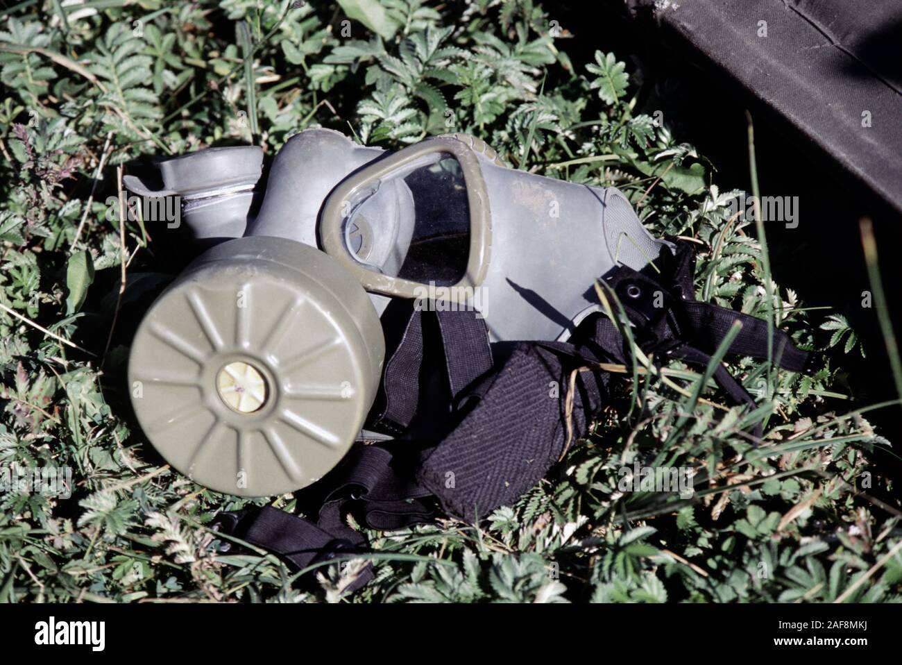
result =
[[[350,37],[329,3],[39,0],[0,15],[0,469],[69,467],[73,480],[69,497],[0,494],[0,601],[902,597],[902,513],[879,465],[894,453],[867,420],[897,402],[856,404],[834,385],[854,331],[829,301],[773,281],[763,226],[727,215],[738,192],[641,107],[654,82],[638,86],[603,32],[593,60],[571,60],[529,0],[382,7]],[[377,577],[354,595],[359,560],[344,577],[319,567],[311,592],[272,556],[219,551],[205,525],[247,502],[160,466],[120,387],[127,311],[178,270],[170,236],[120,226],[106,202],[136,158],[252,141],[272,156],[318,125],[391,148],[472,133],[521,169],[616,185],[653,233],[695,242],[699,297],[769,319],[824,350],[820,365],[801,377],[731,359],[759,395],[746,412],[712,367],[658,369],[636,349],[608,367],[624,377],[616,399],[546,481],[480,525],[371,533]],[[692,469],[695,496],[619,491],[637,460]]]

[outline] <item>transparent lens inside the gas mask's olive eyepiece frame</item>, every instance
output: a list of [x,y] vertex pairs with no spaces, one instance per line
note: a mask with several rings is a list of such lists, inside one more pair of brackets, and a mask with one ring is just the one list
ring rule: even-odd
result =
[[345,246],[366,268],[451,285],[466,272],[470,214],[464,173],[447,152],[425,155],[368,183],[345,206]]

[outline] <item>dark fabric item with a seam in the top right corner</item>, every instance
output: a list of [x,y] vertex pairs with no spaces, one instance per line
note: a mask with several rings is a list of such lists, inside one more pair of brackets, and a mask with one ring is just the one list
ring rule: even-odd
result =
[[626,4],[902,210],[902,0]]

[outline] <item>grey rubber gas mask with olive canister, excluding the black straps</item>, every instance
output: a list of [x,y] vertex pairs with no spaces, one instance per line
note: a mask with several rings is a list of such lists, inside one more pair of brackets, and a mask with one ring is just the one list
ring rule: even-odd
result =
[[480,309],[492,340],[563,339],[597,309],[586,285],[666,245],[617,189],[513,171],[465,134],[388,153],[302,132],[250,218],[261,164],[259,148],[213,148],[162,162],[162,190],[126,179],[179,194],[215,245],[138,329],[134,410],[172,466],[229,494],[299,489],[345,455],[382,377],[392,298],[441,290]]

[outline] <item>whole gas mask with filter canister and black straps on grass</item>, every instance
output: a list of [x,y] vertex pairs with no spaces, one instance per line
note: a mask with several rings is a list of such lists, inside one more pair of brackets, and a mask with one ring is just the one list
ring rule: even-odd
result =
[[611,401],[604,364],[632,365],[633,344],[713,366],[750,407],[712,365],[727,336],[727,353],[809,368],[765,321],[695,300],[691,246],[649,236],[617,189],[513,171],[464,134],[389,153],[315,129],[276,155],[252,215],[261,167],[259,148],[211,148],[162,162],[162,189],[125,180],[179,196],[206,249],[147,312],[128,374],[181,473],[226,494],[301,490],[308,517],[214,520],[294,568],[365,556],[346,513],[393,530],[516,502]]

